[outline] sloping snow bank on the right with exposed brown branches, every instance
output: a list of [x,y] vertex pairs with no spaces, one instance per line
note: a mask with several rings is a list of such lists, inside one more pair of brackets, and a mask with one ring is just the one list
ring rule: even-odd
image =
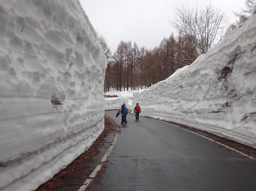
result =
[[256,17],[190,66],[133,96],[142,115],[256,148]]

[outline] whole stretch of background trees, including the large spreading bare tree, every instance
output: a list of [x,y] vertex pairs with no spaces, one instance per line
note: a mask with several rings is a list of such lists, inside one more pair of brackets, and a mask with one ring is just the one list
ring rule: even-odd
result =
[[190,65],[200,54],[218,44],[236,27],[256,14],[256,1],[246,0],[246,9],[235,13],[238,20],[226,27],[226,15],[212,4],[204,8],[177,8],[175,22],[178,31],[163,38],[153,49],[139,48],[136,42],[120,41],[112,54],[102,35],[99,42],[107,58],[104,92],[110,90],[146,89]]

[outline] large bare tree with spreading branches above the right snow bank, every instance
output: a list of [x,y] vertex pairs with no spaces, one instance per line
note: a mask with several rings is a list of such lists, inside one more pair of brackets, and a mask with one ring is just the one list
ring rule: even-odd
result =
[[206,53],[223,38],[226,14],[212,4],[205,8],[177,8],[177,18],[171,22],[183,35],[193,37],[199,52]]

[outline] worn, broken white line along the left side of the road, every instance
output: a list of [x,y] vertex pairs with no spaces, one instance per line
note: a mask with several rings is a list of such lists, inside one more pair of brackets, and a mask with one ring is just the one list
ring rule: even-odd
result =
[[[114,146],[116,145],[118,134],[116,134],[116,137],[114,138],[114,141],[112,142],[112,145],[109,147],[107,152],[104,154],[100,162],[106,162],[110,152],[114,149]],[[95,170],[90,175],[90,178],[86,179],[83,185],[79,188],[78,191],[85,191],[87,187],[90,185],[91,181],[93,181],[93,178],[97,175],[97,173],[100,171],[102,167],[102,164],[99,164],[96,166]]]

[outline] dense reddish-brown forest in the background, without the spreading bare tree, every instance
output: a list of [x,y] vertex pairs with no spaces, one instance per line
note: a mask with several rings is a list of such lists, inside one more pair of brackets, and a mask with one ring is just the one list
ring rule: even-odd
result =
[[171,35],[152,50],[139,48],[136,42],[120,41],[113,55],[108,55],[105,91],[147,88],[169,77],[178,68],[191,64],[197,51],[191,37]]

